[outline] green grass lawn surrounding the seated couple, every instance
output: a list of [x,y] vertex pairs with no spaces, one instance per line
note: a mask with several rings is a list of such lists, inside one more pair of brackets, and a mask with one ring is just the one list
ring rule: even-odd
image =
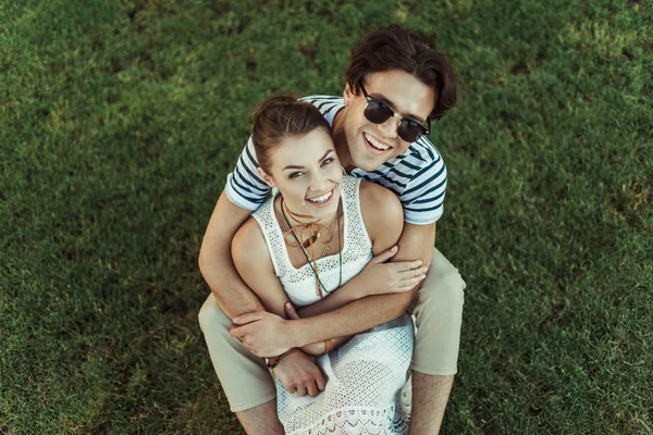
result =
[[205,225],[266,96],[340,94],[368,26],[435,32],[467,281],[445,434],[653,433],[648,1],[0,1],[0,433],[238,432]]

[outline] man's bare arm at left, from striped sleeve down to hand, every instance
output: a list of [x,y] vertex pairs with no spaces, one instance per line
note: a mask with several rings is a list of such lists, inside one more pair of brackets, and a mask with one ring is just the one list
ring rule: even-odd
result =
[[218,199],[199,251],[199,270],[218,304],[230,319],[263,307],[245,285],[231,256],[232,239],[251,211],[232,203],[224,192]]

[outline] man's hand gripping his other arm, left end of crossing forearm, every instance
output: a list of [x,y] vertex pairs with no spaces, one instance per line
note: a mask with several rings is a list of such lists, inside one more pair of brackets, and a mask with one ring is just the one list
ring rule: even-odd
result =
[[[267,311],[239,315],[230,331],[257,357],[276,357],[294,347],[288,321]],[[295,353],[295,352],[293,352]]]

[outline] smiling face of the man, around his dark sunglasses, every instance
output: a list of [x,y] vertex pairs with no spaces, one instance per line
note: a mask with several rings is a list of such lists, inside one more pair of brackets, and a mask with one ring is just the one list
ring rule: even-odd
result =
[[[383,101],[396,114],[427,124],[433,110],[435,91],[411,74],[401,70],[368,74],[365,87],[370,97]],[[344,133],[349,148],[350,162],[346,170],[360,167],[374,171],[383,162],[402,154],[410,142],[397,135],[399,119],[390,117],[374,124],[365,117],[367,99],[362,92],[354,95],[349,85],[345,87],[345,104],[348,108],[344,120]],[[353,167],[347,167],[353,165]]]

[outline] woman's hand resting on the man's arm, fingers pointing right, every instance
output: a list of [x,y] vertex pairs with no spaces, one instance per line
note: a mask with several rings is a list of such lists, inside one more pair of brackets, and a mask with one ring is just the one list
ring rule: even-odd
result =
[[421,260],[386,263],[397,250],[393,246],[381,252],[354,278],[359,297],[408,291],[427,277],[429,268],[421,266]]

